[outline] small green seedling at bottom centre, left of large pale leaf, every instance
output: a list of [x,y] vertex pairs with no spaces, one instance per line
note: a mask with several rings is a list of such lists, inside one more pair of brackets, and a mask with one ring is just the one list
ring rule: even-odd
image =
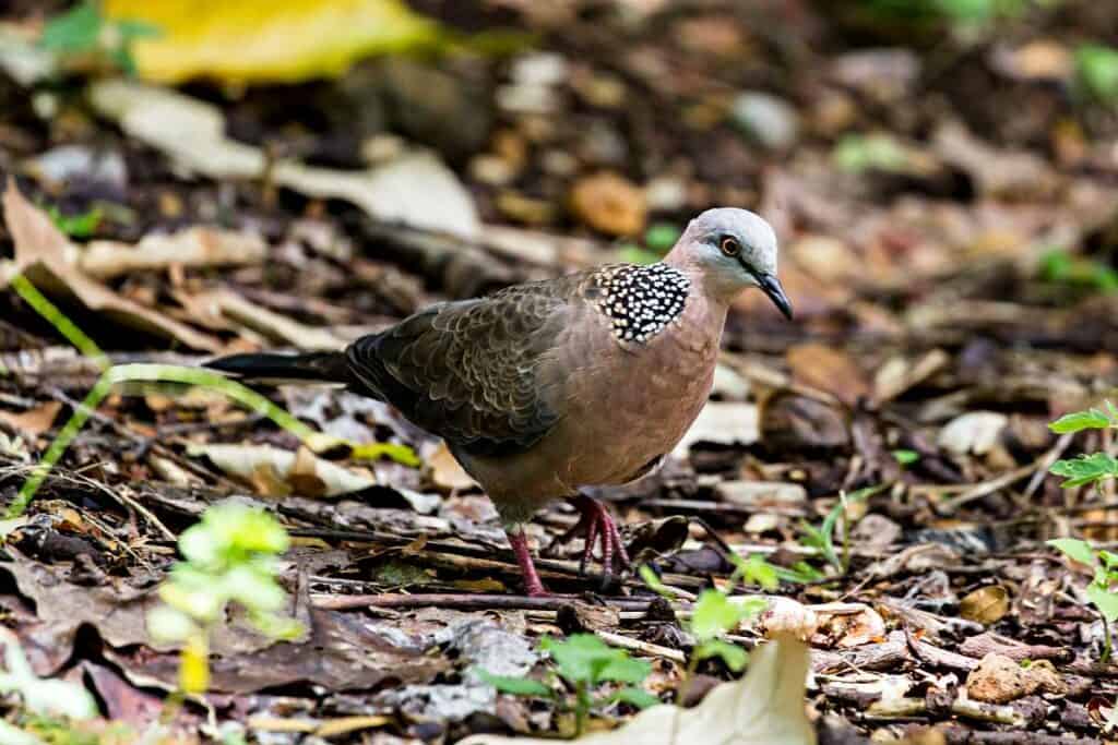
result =
[[[624,649],[609,647],[593,633],[577,633],[565,641],[544,637],[540,649],[551,655],[559,678],[574,689],[574,706],[565,696],[557,696],[553,686],[540,680],[493,675],[481,668],[475,668],[475,672],[481,680],[502,693],[548,698],[566,710],[574,710],[576,737],[586,730],[587,719],[595,708],[617,701],[639,708],[660,704],[659,698],[636,687],[648,677],[652,666],[635,659]],[[606,696],[595,697],[595,689],[605,682],[627,685]]]

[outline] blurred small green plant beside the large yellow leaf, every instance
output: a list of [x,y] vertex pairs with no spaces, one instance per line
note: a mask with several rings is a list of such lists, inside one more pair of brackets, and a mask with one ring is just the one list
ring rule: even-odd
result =
[[101,3],[85,0],[51,18],[42,29],[39,46],[65,58],[107,61],[129,75],[136,71],[132,45],[157,37],[160,29],[139,20],[112,20],[101,12]]

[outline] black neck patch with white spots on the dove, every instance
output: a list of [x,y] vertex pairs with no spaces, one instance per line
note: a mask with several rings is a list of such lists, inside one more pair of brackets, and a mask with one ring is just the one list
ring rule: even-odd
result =
[[644,344],[683,314],[691,280],[666,264],[618,264],[595,273],[594,286],[614,336]]

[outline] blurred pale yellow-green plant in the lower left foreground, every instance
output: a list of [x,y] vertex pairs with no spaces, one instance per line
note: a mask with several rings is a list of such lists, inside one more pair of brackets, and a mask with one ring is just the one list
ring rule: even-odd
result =
[[281,613],[287,595],[276,582],[276,557],[290,538],[268,513],[236,503],[209,507],[196,525],[179,536],[178,562],[160,585],[162,605],[148,614],[148,630],[158,641],[183,644],[179,687],[201,693],[209,685],[209,637],[236,602],[249,622],[274,639],[303,631]]

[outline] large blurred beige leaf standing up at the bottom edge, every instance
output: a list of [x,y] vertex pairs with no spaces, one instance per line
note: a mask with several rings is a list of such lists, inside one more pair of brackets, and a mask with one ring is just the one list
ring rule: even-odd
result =
[[[815,729],[804,705],[808,648],[780,633],[752,653],[749,674],[717,686],[690,709],[653,706],[612,732],[578,738],[585,745],[670,745],[712,742],[727,745],[814,745]],[[461,745],[555,745],[540,737],[474,735]]]

